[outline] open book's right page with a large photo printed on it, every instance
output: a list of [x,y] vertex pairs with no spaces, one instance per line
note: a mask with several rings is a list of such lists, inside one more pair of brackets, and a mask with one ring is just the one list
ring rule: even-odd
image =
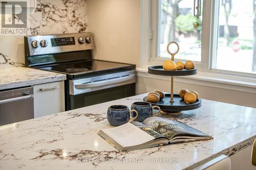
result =
[[188,134],[194,136],[208,136],[190,126],[181,122],[162,118],[162,117],[148,117],[144,120],[143,124],[154,131],[162,134],[169,140],[178,134]]

